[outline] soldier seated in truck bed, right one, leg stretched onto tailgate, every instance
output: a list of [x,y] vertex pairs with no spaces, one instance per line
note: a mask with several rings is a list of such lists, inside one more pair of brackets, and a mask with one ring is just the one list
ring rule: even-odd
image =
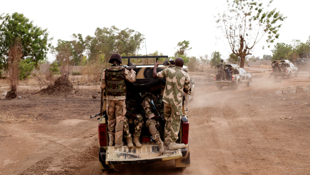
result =
[[[157,91],[151,91],[149,92],[143,102],[142,102],[142,106],[144,108],[145,111],[145,117],[148,118],[148,120],[146,121],[146,126],[148,127],[150,133],[152,134],[152,136],[154,137],[158,147],[159,147],[159,154],[162,154],[162,152],[164,152],[166,150],[166,146],[164,145],[164,142],[162,142],[162,139],[160,138],[159,132],[156,129],[157,125],[157,119],[158,116],[157,114],[152,112],[152,106],[151,106],[151,100],[153,100],[156,109],[158,110],[158,113],[160,115],[164,114],[164,110],[163,110],[163,104],[162,104],[162,88],[159,88]],[[164,126],[162,126],[164,127]]]

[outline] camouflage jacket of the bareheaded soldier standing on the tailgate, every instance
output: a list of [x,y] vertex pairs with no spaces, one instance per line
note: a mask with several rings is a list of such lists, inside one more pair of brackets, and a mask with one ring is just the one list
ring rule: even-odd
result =
[[189,90],[189,75],[183,71],[182,67],[175,66],[157,72],[158,78],[166,78],[166,86],[162,101],[174,105],[182,106],[183,89]]

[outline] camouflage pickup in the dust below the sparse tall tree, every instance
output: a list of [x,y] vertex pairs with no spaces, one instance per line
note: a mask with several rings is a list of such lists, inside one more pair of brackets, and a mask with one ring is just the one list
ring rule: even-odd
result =
[[225,64],[225,72],[229,67],[232,67],[233,69],[232,81],[229,80],[228,74],[226,74],[225,80],[221,81],[218,74],[219,64],[215,66],[214,84],[218,90],[221,90],[223,86],[234,87],[237,89],[240,85],[247,85],[248,87],[252,85],[252,77],[249,72],[245,71],[243,68],[240,68],[237,64]]

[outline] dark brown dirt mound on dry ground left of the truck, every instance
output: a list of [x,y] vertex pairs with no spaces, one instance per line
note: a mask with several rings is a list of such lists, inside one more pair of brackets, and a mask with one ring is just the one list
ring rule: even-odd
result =
[[47,88],[41,89],[38,93],[47,94],[60,94],[60,93],[71,93],[73,85],[69,81],[67,76],[61,76],[57,78],[53,85],[47,86]]

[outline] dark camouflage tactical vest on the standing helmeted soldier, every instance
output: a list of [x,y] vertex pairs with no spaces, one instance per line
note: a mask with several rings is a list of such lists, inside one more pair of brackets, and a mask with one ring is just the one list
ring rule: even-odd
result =
[[108,96],[125,96],[126,84],[125,84],[125,68],[108,67],[105,69],[106,87],[105,94]]

